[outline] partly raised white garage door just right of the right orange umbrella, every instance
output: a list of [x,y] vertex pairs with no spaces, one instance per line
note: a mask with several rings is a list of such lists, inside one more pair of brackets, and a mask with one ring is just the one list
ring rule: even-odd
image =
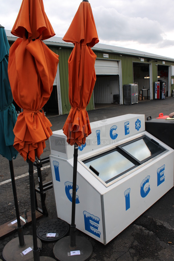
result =
[[96,59],[95,71],[96,75],[119,75],[118,62]]

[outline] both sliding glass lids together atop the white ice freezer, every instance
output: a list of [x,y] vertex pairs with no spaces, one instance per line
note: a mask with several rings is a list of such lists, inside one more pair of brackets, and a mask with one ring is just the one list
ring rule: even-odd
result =
[[82,162],[105,183],[109,183],[163,151],[166,151],[164,147],[143,135]]

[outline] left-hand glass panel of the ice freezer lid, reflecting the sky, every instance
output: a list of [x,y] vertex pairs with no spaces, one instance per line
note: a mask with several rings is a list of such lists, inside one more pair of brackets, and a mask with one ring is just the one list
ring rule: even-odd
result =
[[134,167],[135,165],[126,159],[118,151],[113,151],[91,161],[85,163],[86,166],[90,165],[99,172],[99,177],[103,181],[108,181],[113,177],[117,177],[120,173]]

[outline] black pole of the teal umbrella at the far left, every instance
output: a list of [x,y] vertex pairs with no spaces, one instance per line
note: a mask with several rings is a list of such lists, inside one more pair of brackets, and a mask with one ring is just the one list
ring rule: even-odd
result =
[[15,202],[15,210],[16,210],[16,218],[17,218],[17,232],[19,237],[19,247],[22,248],[25,246],[25,241],[24,241],[23,226],[21,225],[21,220],[19,215],[19,206],[18,206],[17,192],[16,192],[16,185],[15,185],[15,174],[13,169],[13,160],[9,160],[9,166],[10,166],[11,183],[12,183],[13,197]]

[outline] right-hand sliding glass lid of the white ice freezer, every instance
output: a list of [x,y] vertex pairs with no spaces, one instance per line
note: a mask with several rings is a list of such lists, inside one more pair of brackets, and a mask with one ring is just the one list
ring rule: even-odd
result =
[[166,150],[159,143],[147,136],[132,140],[119,147],[136,159],[140,164]]

